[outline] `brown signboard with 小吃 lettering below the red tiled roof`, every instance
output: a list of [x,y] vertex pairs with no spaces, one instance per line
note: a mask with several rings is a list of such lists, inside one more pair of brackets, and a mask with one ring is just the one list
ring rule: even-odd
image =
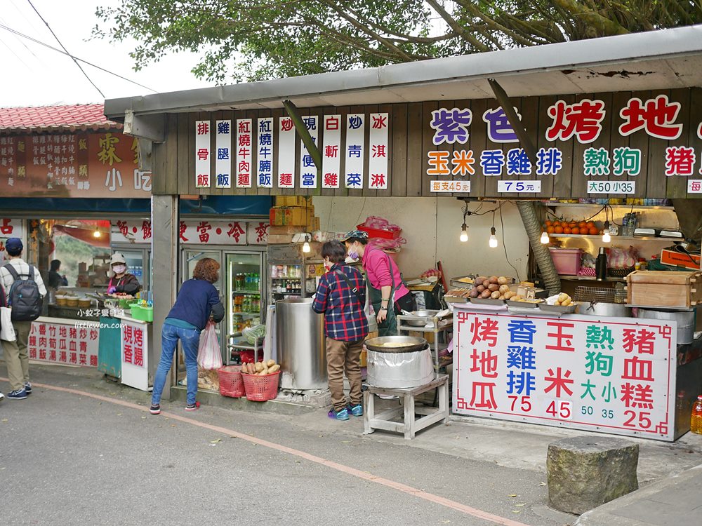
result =
[[4,197],[148,198],[138,142],[117,132],[0,137]]

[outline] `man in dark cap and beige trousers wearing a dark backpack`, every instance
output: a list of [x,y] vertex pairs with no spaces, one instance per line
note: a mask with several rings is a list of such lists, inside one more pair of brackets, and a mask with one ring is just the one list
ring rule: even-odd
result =
[[46,296],[44,280],[39,270],[22,259],[22,240],[9,238],[5,243],[8,263],[0,267],[0,285],[5,290],[6,302],[12,309],[15,342],[3,342],[7,375],[11,391],[6,398],[24,400],[32,393],[29,383],[29,354],[27,342],[32,321],[41,316]]

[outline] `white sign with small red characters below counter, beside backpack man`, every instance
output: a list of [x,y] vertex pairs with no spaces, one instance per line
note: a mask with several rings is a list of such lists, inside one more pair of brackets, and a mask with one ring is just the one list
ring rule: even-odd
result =
[[27,341],[31,360],[98,367],[100,323],[39,318],[32,322]]

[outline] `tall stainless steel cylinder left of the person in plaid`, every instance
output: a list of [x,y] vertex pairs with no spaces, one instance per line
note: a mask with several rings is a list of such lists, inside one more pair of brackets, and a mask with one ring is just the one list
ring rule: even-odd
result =
[[324,316],[312,299],[281,299],[275,304],[278,361],[283,389],[326,389]]

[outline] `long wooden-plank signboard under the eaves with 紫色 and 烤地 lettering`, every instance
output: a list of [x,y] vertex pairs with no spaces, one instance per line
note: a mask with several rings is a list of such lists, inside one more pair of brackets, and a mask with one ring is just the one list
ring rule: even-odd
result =
[[[282,110],[218,112],[210,121],[179,115],[169,137],[177,139],[186,128],[196,134],[186,141],[196,149],[176,152],[179,167],[192,167],[195,159],[196,173],[194,186],[178,177],[178,190],[494,198],[701,196],[696,183],[688,180],[702,179],[702,88],[524,97],[512,99],[512,104],[536,147],[534,158],[496,100],[300,109],[322,154],[319,173]],[[209,138],[199,139],[198,134],[213,130],[222,116],[251,121],[249,131],[230,138],[244,141],[232,144],[240,156],[232,156],[230,172],[250,167],[251,187],[217,188],[200,177],[215,169],[215,160],[209,155]],[[190,119],[194,130],[179,126],[181,119]],[[173,191],[163,177],[154,191],[166,194],[167,189]]]

